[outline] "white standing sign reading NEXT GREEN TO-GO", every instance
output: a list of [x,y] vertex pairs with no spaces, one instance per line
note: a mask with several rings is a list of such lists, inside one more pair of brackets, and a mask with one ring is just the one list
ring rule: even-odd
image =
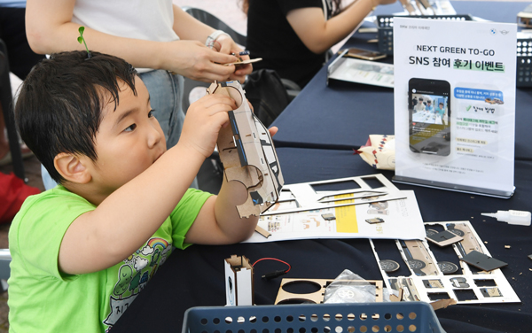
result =
[[512,196],[516,25],[394,22],[395,180]]

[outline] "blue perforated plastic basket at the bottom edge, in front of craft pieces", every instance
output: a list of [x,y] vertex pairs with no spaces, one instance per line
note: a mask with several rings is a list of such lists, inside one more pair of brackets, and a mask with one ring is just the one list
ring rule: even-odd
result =
[[192,307],[182,333],[445,332],[424,302]]

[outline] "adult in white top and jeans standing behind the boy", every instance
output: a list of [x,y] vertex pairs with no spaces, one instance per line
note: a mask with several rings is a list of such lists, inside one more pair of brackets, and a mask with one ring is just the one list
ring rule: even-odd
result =
[[[124,58],[137,68],[168,148],[176,145],[183,128],[183,76],[244,81],[253,70],[251,65],[224,66],[238,60],[231,53],[241,51],[239,46],[172,0],[27,1],[27,39],[37,53],[84,50],[77,42],[81,26],[89,50]],[[44,182],[53,186],[49,178]]]

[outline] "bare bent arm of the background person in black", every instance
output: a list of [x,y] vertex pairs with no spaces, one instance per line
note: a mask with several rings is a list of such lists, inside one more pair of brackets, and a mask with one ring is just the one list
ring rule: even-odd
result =
[[340,14],[325,20],[323,9],[299,8],[288,12],[286,19],[301,42],[314,53],[329,50],[347,37],[379,4],[393,4],[395,0],[356,0]]

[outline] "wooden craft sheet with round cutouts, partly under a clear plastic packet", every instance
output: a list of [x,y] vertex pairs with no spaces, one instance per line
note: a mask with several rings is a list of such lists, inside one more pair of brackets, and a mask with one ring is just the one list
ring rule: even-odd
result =
[[[278,297],[275,299],[276,305],[278,304],[293,304],[293,303],[303,303],[310,302],[315,304],[320,304],[324,302],[325,288],[332,282],[340,282],[328,279],[283,279],[281,280],[281,287],[278,291]],[[292,283],[310,283],[315,284],[318,288],[315,292],[309,292],[306,294],[294,294],[283,289],[286,285]],[[354,281],[346,281],[346,283],[355,283]],[[370,283],[375,285],[375,301],[382,302],[382,281],[380,280],[361,280],[360,283]],[[346,285],[348,286],[348,284]]]

